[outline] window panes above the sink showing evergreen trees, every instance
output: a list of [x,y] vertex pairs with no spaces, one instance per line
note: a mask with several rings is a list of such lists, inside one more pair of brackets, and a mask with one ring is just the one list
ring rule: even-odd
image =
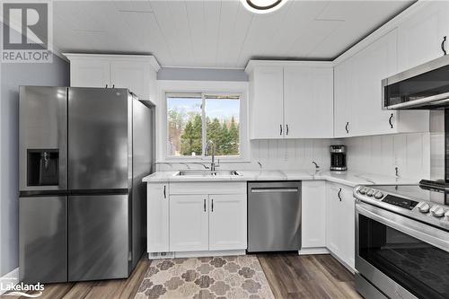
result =
[[167,156],[203,156],[207,142],[216,155],[240,156],[240,95],[166,93]]

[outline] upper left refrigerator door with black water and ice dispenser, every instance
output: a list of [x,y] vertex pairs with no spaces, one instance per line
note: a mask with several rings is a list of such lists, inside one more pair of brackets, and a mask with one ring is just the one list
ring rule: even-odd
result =
[[21,191],[66,189],[66,92],[66,87],[20,87]]

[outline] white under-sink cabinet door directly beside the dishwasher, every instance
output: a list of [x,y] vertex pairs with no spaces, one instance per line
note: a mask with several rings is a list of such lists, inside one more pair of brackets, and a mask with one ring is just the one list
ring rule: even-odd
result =
[[209,250],[246,249],[246,194],[209,195]]

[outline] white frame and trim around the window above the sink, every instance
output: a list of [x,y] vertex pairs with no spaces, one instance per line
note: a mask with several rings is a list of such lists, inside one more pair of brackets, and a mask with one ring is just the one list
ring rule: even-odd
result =
[[[159,84],[160,105],[156,105],[156,121],[160,124],[159,136],[156,133],[156,140],[159,141],[157,146],[157,162],[158,163],[207,163],[210,160],[209,155],[205,155],[206,145],[206,110],[204,106],[201,108],[202,121],[202,153],[197,156],[172,156],[167,152],[168,140],[168,118],[167,118],[167,94],[201,94],[201,101],[204,104],[205,95],[238,95],[240,102],[239,109],[239,137],[240,137],[240,155],[217,155],[216,158],[221,162],[241,163],[249,161],[249,131],[248,131],[248,83],[247,82],[199,82],[199,81],[171,81],[161,80]],[[160,107],[159,113],[157,106]]]

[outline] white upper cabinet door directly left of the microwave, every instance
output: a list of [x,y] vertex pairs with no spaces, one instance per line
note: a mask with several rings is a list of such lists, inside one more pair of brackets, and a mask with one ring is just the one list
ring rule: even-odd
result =
[[353,136],[397,132],[396,112],[382,110],[382,80],[397,73],[397,31],[393,30],[360,51],[353,60],[355,96],[351,98]]

